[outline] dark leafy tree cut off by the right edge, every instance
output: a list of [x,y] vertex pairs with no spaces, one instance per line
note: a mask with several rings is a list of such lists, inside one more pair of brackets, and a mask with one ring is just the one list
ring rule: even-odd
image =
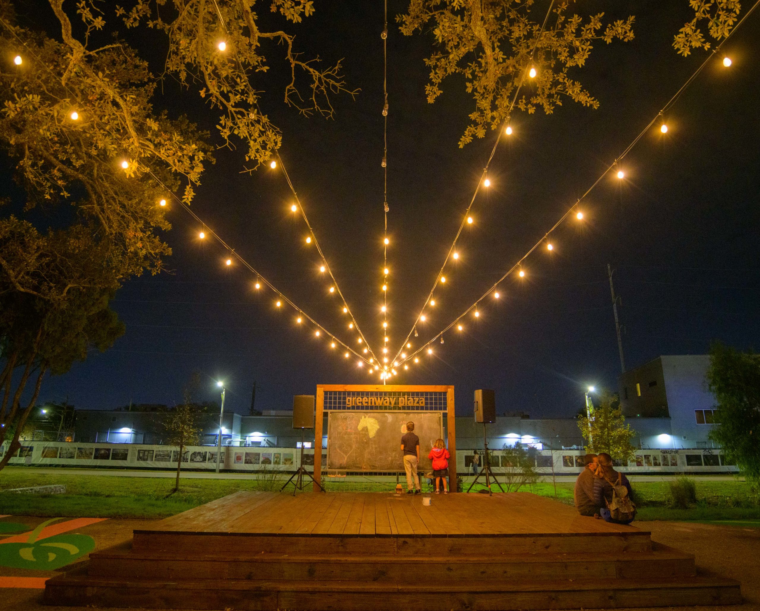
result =
[[760,483],[760,354],[714,343],[708,388],[715,395],[710,438],[747,480]]

